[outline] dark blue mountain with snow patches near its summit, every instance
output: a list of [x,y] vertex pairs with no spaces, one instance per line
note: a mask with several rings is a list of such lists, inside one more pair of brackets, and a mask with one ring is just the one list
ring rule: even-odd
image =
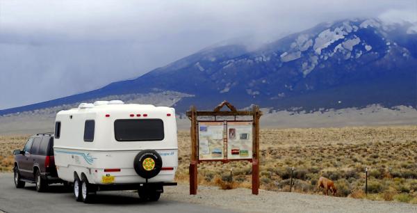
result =
[[416,107],[416,72],[416,23],[347,19],[319,24],[252,52],[243,45],[203,49],[137,79],[0,114],[155,90],[189,94],[176,102],[179,111],[190,104],[211,109],[222,100],[240,108]]

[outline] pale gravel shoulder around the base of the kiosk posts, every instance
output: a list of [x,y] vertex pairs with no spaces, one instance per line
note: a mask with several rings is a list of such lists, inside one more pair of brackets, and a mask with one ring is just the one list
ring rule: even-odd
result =
[[263,191],[258,196],[250,189],[221,190],[199,186],[198,194],[189,195],[188,184],[165,187],[163,196],[170,200],[220,207],[237,212],[417,212],[417,205],[354,198]]

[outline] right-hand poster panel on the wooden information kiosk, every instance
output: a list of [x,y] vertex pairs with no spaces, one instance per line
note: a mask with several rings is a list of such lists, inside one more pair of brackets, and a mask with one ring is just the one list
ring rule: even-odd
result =
[[227,122],[227,159],[252,159],[252,122]]

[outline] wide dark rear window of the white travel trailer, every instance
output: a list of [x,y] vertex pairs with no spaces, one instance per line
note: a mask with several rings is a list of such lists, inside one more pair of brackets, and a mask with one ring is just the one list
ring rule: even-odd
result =
[[162,141],[164,139],[161,119],[126,119],[115,121],[117,141]]

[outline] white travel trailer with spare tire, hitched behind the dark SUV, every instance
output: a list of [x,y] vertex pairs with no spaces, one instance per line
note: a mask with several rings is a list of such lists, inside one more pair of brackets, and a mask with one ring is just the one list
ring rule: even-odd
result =
[[175,111],[119,100],[60,111],[54,155],[58,177],[73,184],[77,201],[88,202],[96,191],[128,189],[158,200],[163,186],[177,184]]

